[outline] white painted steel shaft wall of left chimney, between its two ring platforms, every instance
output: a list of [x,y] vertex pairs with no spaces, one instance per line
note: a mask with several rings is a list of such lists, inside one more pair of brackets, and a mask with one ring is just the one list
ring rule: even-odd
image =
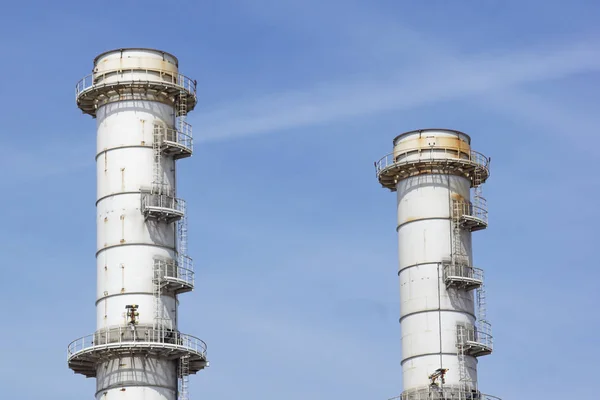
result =
[[[154,258],[175,258],[175,226],[145,221],[140,189],[152,189],[153,126],[172,127],[174,110],[150,101],[125,101],[97,112],[98,135],[98,329],[125,321],[125,306],[138,304],[140,324],[154,321]],[[120,139],[118,139],[120,138]],[[147,143],[149,147],[139,147]],[[135,146],[135,147],[134,147]],[[166,190],[175,190],[175,162],[163,157]],[[171,325],[175,299],[162,296]]]

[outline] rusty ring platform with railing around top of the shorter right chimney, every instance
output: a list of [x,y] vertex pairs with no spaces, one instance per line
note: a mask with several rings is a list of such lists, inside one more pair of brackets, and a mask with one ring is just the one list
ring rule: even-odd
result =
[[490,175],[489,159],[476,151],[464,152],[449,147],[410,150],[391,153],[375,163],[381,186],[396,191],[396,184],[405,178],[422,174],[455,174],[482,184]]

